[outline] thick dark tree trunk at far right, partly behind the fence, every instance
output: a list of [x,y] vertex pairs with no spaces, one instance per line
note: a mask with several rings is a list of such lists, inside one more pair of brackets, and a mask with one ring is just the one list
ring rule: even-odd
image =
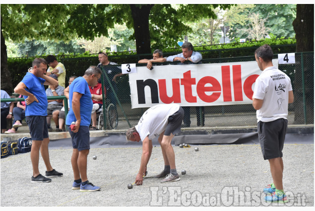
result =
[[[297,4],[297,15],[292,25],[296,33],[296,52],[314,51],[314,4]],[[295,124],[314,124],[314,54],[296,57],[294,114]]]

